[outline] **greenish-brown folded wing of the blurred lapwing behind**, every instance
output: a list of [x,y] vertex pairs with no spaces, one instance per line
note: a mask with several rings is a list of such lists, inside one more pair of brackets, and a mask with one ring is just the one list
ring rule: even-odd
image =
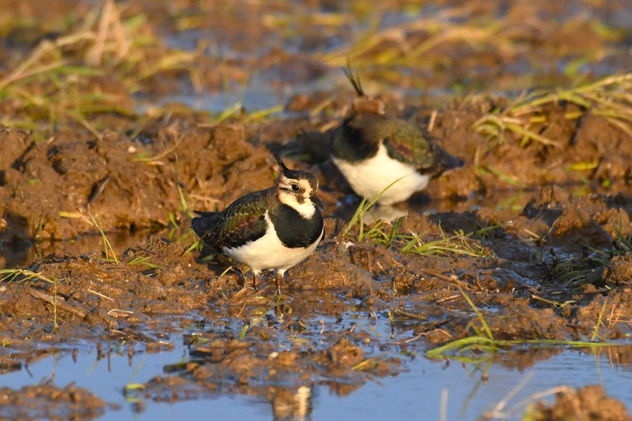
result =
[[389,157],[420,170],[432,166],[434,151],[425,131],[400,119],[388,119],[383,126],[380,136]]

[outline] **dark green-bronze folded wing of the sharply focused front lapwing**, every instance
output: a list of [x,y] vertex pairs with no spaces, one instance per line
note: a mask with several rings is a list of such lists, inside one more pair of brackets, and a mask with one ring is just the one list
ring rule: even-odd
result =
[[243,246],[263,237],[267,230],[265,211],[269,191],[255,191],[231,203],[216,216],[216,223],[205,235],[205,241],[222,249]]

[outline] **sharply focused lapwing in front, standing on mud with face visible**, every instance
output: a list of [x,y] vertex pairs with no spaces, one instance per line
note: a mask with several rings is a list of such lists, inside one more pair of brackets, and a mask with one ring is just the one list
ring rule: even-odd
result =
[[194,211],[200,216],[191,227],[212,249],[249,266],[255,289],[262,271],[276,271],[278,291],[285,271],[312,254],[325,230],[316,177],[274,157],[276,186],[246,194],[221,212]]

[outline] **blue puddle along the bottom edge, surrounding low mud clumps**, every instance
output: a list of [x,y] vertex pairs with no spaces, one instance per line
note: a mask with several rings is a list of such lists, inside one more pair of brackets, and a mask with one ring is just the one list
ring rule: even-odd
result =
[[[530,396],[562,384],[577,388],[600,384],[613,398],[632,405],[632,369],[629,361],[626,364],[619,362],[619,357],[626,355],[624,348],[595,348],[595,353],[550,349],[510,352],[496,355],[494,364],[486,368],[485,363],[447,362],[423,357],[416,345],[423,340],[406,343],[411,339],[410,329],[393,324],[385,317],[370,318],[366,312],[356,311],[343,312],[340,316],[343,322],[338,322],[335,317],[319,316],[307,319],[306,323],[310,328],[326,326],[325,330],[348,330],[355,324],[356,329],[379,338],[379,346],[362,346],[367,357],[397,357],[401,361],[399,367],[391,374],[372,377],[367,382],[336,381],[322,376],[320,381],[301,384],[300,379],[288,379],[285,383],[267,384],[265,388],[251,388],[252,382],[245,388],[236,385],[234,389],[233,386],[218,387],[217,392],[199,387],[191,400],[185,398],[185,386],[181,389],[174,387],[172,394],[154,394],[150,398],[143,392],[126,393],[127,384],[147,384],[155,376],[172,374],[174,364],[199,360],[198,353],[191,355],[191,348],[183,345],[183,338],[217,331],[218,324],[217,321],[205,321],[199,314],[191,314],[187,319],[173,319],[175,331],[169,333],[167,339],[173,344],[170,350],[158,353],[136,350],[130,357],[128,348],[121,345],[113,345],[116,348],[111,351],[104,348],[100,354],[94,348],[80,347],[82,350],[76,360],[71,352],[49,353],[46,358],[28,364],[28,369],[23,366],[0,379],[13,389],[39,381],[52,382],[61,388],[75,382],[75,386],[85,387],[107,403],[119,406],[119,409],[107,409],[100,418],[102,420],[121,417],[207,419],[209,413],[224,413],[227,408],[230,408],[231,418],[252,420],[337,419],[342,414],[351,420],[369,420],[382,418],[386,413],[398,419],[418,419],[420,413],[425,419],[439,419],[442,394],[444,400],[447,397],[447,419],[471,420],[494,408],[518,384],[522,384],[521,388],[502,408],[508,412],[520,405],[513,408],[513,419],[520,418]],[[198,323],[191,323],[191,320]],[[250,323],[254,325],[256,320],[250,319]],[[321,320],[324,324],[320,324]],[[234,319],[219,321],[226,323],[226,329],[239,328],[236,325],[243,323]],[[169,319],[163,317],[162,323],[168,325]],[[323,336],[319,335],[318,329],[310,332],[310,328],[301,335],[283,333],[279,329],[280,348],[277,349],[324,348],[320,345],[324,342]],[[301,341],[297,340],[299,337]],[[386,352],[382,351],[384,349]],[[270,354],[273,352],[276,351]],[[229,383],[231,380],[226,379],[226,384]],[[191,389],[188,383],[186,389]]]

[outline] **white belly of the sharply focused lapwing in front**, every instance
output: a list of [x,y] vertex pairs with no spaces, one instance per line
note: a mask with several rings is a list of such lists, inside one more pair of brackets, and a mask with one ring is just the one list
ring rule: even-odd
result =
[[308,247],[286,247],[279,240],[268,211],[265,211],[265,222],[267,222],[268,228],[260,239],[240,247],[233,247],[232,249],[224,247],[223,249],[224,253],[240,263],[248,265],[257,275],[263,270],[277,270],[284,273],[312,254],[322,238],[321,232],[318,239]]

